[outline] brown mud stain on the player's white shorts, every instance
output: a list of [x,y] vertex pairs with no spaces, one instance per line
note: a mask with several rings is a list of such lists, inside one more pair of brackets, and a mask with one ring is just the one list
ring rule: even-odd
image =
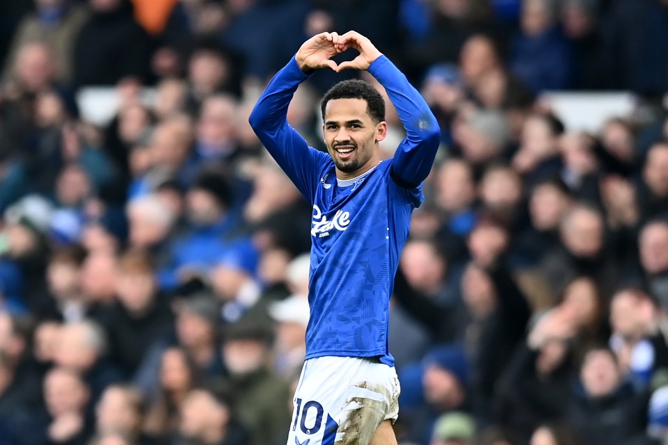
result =
[[384,400],[378,401],[373,398],[351,397],[347,401],[344,411],[347,411],[346,417],[337,430],[339,439],[335,445],[366,445],[385,420],[391,407],[388,407],[388,401],[395,402],[392,394],[383,385],[373,385],[369,382],[360,382],[355,385],[361,389],[368,389],[379,394]]

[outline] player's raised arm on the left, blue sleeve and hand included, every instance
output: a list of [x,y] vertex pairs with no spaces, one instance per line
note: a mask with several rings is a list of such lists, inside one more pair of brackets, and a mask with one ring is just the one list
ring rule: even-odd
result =
[[308,79],[312,70],[336,65],[335,33],[321,33],[307,40],[282,70],[273,76],[250,113],[250,127],[260,138],[280,168],[313,201],[319,165],[328,156],[309,147],[304,138],[287,123],[287,107],[299,84]]

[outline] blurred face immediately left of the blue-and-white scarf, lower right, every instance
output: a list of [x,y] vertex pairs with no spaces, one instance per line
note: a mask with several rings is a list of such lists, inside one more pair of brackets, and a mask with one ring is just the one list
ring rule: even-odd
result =
[[608,350],[591,350],[584,356],[580,380],[589,397],[612,394],[619,386],[619,369],[612,353]]

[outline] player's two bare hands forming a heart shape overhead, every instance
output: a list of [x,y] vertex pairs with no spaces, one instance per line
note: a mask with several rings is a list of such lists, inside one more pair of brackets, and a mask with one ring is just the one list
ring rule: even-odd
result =
[[[331,60],[335,55],[348,49],[356,49],[359,55],[353,60],[337,65]],[[356,31],[348,31],[343,35],[337,33],[319,33],[301,45],[295,56],[299,68],[303,72],[318,68],[330,67],[335,72],[351,68],[367,70],[376,58],[381,56],[371,40]]]

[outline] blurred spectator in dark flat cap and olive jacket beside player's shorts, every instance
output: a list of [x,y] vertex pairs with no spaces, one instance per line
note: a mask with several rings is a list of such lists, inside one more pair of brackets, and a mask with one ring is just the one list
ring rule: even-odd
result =
[[240,321],[224,331],[223,359],[230,375],[221,382],[237,401],[239,421],[251,433],[250,444],[285,440],[290,412],[288,385],[271,369],[273,332],[265,323]]

